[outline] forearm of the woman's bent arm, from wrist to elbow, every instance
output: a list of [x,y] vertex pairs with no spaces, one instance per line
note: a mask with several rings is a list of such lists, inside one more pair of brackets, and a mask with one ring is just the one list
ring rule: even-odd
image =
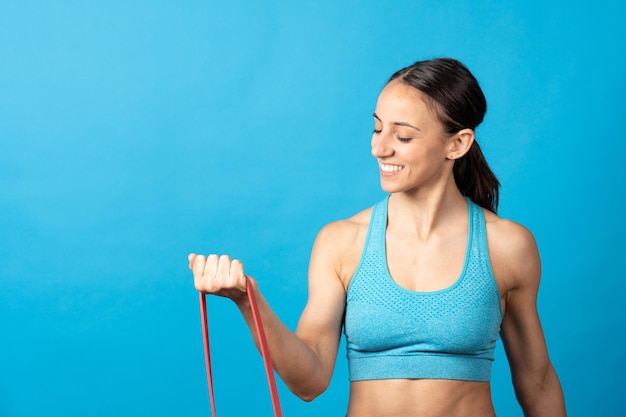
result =
[[[295,395],[305,401],[314,399],[326,389],[330,379],[324,372],[326,367],[322,359],[311,346],[282,323],[255,283],[253,287],[274,369]],[[247,298],[236,304],[260,351],[259,337]]]

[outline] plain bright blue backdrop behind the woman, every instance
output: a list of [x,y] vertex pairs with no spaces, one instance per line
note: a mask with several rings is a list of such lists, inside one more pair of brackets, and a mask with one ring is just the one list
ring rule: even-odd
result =
[[[317,231],[383,195],[380,89],[435,56],[487,96],[569,414],[623,415],[626,14],[546,3],[0,0],[0,416],[209,415],[187,253],[242,259],[295,329]],[[219,414],[270,415],[243,320],[209,310]],[[340,349],[314,402],[280,386],[286,416],[344,415]]]

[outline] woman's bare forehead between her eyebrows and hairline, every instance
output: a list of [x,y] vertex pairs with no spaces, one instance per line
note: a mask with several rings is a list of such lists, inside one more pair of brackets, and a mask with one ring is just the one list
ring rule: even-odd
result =
[[390,122],[439,122],[439,118],[427,104],[428,100],[418,89],[393,80],[380,92],[376,102],[376,114],[383,121]]

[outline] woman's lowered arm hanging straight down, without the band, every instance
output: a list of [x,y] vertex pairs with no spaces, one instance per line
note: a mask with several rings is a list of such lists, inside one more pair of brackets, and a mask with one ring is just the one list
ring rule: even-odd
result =
[[526,417],[564,417],[563,391],[537,312],[541,262],[535,239],[523,226],[503,219],[494,221],[489,232],[495,236],[490,245],[494,270],[507,288],[501,336],[517,399]]

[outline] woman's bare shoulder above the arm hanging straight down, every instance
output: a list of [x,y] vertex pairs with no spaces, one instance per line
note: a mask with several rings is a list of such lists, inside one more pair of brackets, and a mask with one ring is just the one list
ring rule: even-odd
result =
[[531,231],[488,210],[484,213],[489,258],[501,290],[538,285],[541,263]]

